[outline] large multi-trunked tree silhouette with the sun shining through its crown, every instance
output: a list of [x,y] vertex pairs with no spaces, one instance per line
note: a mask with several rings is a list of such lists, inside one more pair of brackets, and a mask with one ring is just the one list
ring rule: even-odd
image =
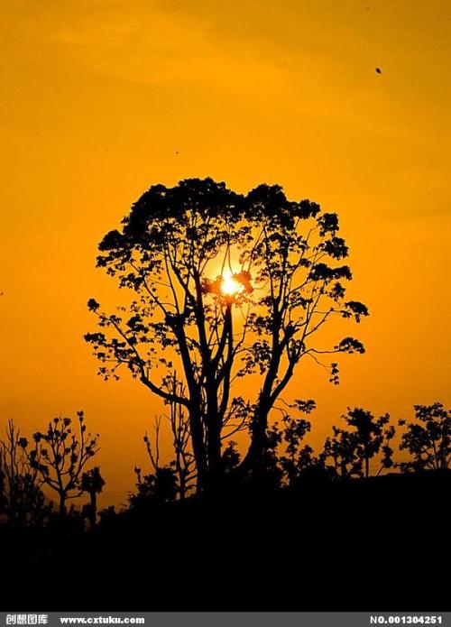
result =
[[[352,275],[337,234],[336,214],[290,201],[277,185],[243,196],[193,179],[152,186],[99,244],[97,265],[133,292],[115,313],[88,302],[100,327],[86,336],[99,372],[117,378],[124,365],[187,412],[199,489],[219,480],[222,443],[236,430],[250,432],[239,472],[258,466],[270,413],[302,360],[326,365],[337,383],[325,355],[364,352],[352,337],[316,341],[334,316],[358,322],[368,313],[345,298]],[[235,392],[237,377],[259,377],[256,397]]]

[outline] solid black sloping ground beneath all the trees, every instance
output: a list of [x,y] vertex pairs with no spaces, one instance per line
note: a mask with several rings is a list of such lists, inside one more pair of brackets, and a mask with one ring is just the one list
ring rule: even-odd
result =
[[451,472],[243,489],[81,536],[1,529],[8,611],[451,610]]

